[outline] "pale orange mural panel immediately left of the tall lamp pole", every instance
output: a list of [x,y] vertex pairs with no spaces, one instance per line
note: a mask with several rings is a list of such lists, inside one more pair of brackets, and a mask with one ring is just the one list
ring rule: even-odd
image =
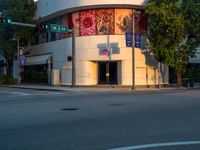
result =
[[115,34],[125,34],[133,29],[133,10],[115,9]]

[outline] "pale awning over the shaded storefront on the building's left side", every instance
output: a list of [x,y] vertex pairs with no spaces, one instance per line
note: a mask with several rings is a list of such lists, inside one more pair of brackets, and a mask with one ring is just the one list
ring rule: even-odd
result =
[[40,56],[32,56],[32,57],[26,57],[26,66],[30,65],[43,65],[48,63],[48,59],[51,57],[51,55],[40,55]]

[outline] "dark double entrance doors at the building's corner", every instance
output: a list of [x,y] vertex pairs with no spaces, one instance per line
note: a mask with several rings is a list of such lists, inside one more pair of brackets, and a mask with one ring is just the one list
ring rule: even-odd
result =
[[99,84],[118,84],[118,62],[99,62]]

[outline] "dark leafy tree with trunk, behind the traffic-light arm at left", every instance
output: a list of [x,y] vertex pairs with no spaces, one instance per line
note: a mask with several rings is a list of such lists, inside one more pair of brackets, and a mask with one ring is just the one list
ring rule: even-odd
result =
[[[33,0],[0,0],[0,15],[15,22],[32,23],[36,5]],[[12,77],[12,64],[16,58],[17,42],[11,41],[16,34],[20,46],[26,46],[30,39],[30,28],[0,24],[0,53],[6,60],[7,76]]]

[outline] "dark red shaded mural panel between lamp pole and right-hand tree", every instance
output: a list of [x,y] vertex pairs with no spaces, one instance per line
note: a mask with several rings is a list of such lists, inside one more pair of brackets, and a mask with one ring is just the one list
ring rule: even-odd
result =
[[135,33],[147,34],[147,16],[144,13],[135,14]]

